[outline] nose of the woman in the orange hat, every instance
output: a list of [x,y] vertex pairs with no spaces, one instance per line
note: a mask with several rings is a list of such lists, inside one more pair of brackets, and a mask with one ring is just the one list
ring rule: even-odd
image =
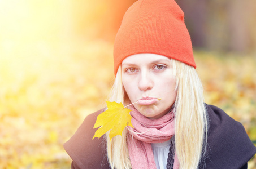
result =
[[141,72],[140,79],[138,81],[138,88],[142,91],[149,90],[153,87],[153,80],[148,72]]

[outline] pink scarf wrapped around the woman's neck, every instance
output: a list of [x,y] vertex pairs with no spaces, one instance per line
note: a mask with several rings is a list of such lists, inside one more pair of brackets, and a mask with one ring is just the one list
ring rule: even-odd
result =
[[[129,156],[133,169],[156,169],[154,154],[150,143],[163,143],[174,135],[174,113],[170,112],[159,119],[148,119],[133,106],[132,125],[128,137]],[[132,131],[132,132],[131,132]],[[179,160],[175,153],[173,168],[179,168]]]

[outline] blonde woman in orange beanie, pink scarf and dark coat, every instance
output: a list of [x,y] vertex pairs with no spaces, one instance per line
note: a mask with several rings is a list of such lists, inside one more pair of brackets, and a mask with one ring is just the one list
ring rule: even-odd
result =
[[88,115],[64,144],[72,168],[247,168],[255,146],[241,123],[203,102],[195,68],[176,2],[135,2],[116,35],[109,99],[138,101],[129,106],[134,128],[92,140],[104,110]]

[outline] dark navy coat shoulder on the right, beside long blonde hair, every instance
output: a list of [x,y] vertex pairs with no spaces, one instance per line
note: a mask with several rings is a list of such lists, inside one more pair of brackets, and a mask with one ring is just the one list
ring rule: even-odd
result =
[[209,116],[206,168],[242,168],[256,153],[244,126],[222,109],[206,105]]

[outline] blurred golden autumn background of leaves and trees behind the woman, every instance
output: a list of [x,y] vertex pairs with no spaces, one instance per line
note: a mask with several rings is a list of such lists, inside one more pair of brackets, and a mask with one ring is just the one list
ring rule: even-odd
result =
[[[115,34],[133,2],[0,0],[0,168],[70,168],[63,143],[104,106]],[[206,103],[240,121],[255,143],[256,3],[177,3]]]

